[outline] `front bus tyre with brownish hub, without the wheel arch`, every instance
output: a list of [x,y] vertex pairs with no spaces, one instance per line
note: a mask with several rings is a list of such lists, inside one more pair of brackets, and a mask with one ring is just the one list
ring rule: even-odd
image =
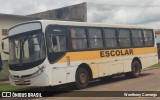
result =
[[88,86],[89,74],[85,68],[78,68],[76,72],[76,87],[84,89]]

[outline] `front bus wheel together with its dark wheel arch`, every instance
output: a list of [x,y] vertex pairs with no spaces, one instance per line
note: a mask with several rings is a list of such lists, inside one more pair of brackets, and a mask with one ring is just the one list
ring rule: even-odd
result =
[[88,64],[82,63],[78,66],[75,73],[75,85],[78,89],[83,89],[88,86],[89,81],[93,79],[92,70]]

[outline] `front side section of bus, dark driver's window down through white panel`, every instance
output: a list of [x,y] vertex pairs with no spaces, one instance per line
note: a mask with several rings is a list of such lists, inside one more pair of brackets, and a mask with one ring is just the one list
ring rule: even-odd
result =
[[[52,66],[52,82],[54,85],[66,83],[67,60],[63,59],[67,52],[67,35],[64,26],[50,25],[46,32],[48,60]],[[58,77],[58,78],[57,78]]]

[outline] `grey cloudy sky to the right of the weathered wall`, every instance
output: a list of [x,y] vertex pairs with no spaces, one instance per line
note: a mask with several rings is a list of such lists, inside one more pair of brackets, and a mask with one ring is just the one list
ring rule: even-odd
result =
[[151,25],[152,23],[153,25],[153,23],[160,21],[159,5],[159,0],[102,0],[99,3],[89,2],[88,21],[134,25],[147,25],[147,23]]

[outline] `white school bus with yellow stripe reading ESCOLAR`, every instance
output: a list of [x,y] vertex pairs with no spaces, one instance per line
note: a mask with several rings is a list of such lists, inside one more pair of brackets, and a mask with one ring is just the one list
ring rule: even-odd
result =
[[139,77],[158,63],[154,30],[143,26],[35,20],[10,28],[8,38],[14,86],[83,89],[106,76]]

